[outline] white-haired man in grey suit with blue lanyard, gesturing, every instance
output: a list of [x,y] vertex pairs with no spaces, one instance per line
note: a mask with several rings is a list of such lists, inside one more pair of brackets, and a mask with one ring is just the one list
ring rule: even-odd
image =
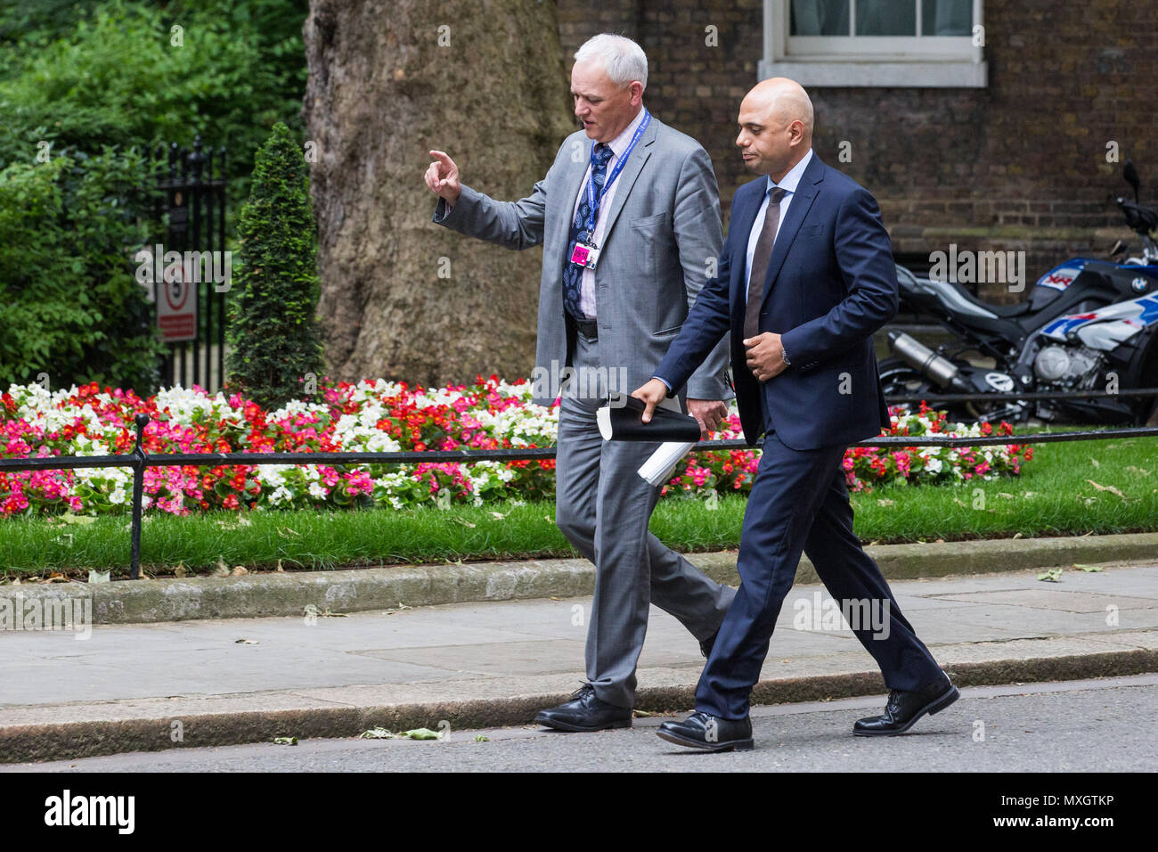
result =
[[[584,130],[564,140],[529,197],[499,202],[463,185],[441,151],[431,152],[425,180],[439,196],[435,223],[507,248],[543,246],[534,401],[562,395],[555,520],[595,563],[595,595],[587,683],[536,721],[586,731],[631,724],[650,603],[706,655],[735,592],[647,531],[659,488],[636,471],[658,444],[604,442],[595,422],[609,389],[629,393],[651,377],[713,274],[723,234],[711,160],[644,108],[647,58],[635,42],[599,35],[574,58]],[[732,396],[725,338],[680,406],[706,437]]]

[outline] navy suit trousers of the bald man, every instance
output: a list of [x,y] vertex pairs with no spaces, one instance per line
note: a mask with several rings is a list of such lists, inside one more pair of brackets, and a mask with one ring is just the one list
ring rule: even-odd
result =
[[775,432],[764,437],[743,514],[736,560],[740,589],[701,675],[696,709],[719,719],[748,715],[752,687],[801,552],[842,611],[845,602],[875,602],[871,605],[887,612],[887,631],[874,631],[871,624],[850,626],[880,665],[888,689],[916,690],[945,677],[852,532],[842,466],[845,449],[792,450]]

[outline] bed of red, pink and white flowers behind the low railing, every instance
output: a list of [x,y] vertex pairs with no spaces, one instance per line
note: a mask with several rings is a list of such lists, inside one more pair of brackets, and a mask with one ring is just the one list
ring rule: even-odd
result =
[[[13,385],[0,394],[0,457],[104,456],[132,450],[133,416],[152,418],[144,446],[151,454],[175,452],[390,452],[550,446],[558,407],[530,401],[532,385],[479,377],[474,385],[410,388],[405,383],[364,380],[318,389],[317,401],[294,401],[262,410],[237,394],[208,395],[175,387],[142,399],[95,383],[49,393],[39,385]],[[970,431],[972,430],[972,431]],[[922,407],[888,435],[988,435],[958,427]],[[998,434],[1011,434],[1003,423]],[[742,437],[733,412],[718,438]],[[850,490],[875,483],[972,482],[1017,474],[1029,447],[992,446],[884,451],[851,449],[844,458]],[[758,452],[713,451],[689,456],[664,493],[702,489],[747,493]],[[555,463],[476,461],[412,465],[218,465],[149,467],[145,507],[185,515],[205,509],[447,505],[506,500],[547,500],[555,493]],[[0,473],[0,512],[98,515],[126,511],[132,495],[129,467]]]

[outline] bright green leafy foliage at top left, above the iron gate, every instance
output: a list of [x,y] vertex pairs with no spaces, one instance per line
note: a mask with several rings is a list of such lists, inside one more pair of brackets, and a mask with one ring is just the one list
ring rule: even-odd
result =
[[58,152],[200,133],[229,148],[236,206],[273,124],[302,130],[307,12],[308,0],[105,0],[73,3],[65,35],[59,12],[0,12],[0,167],[28,158],[35,128]]

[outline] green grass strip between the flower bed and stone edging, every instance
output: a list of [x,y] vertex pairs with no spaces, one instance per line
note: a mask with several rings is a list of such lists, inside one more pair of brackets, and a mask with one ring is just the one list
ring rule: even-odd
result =
[[[746,500],[666,497],[652,531],[684,552],[739,545]],[[865,541],[961,540],[1158,530],[1158,439],[1130,438],[1034,447],[1017,478],[974,486],[882,486],[852,495]],[[214,512],[146,516],[141,563],[169,574],[178,563],[210,573],[332,569],[424,562],[577,555],[555,526],[552,503],[323,512]],[[129,568],[126,516],[0,522],[0,574]]]

